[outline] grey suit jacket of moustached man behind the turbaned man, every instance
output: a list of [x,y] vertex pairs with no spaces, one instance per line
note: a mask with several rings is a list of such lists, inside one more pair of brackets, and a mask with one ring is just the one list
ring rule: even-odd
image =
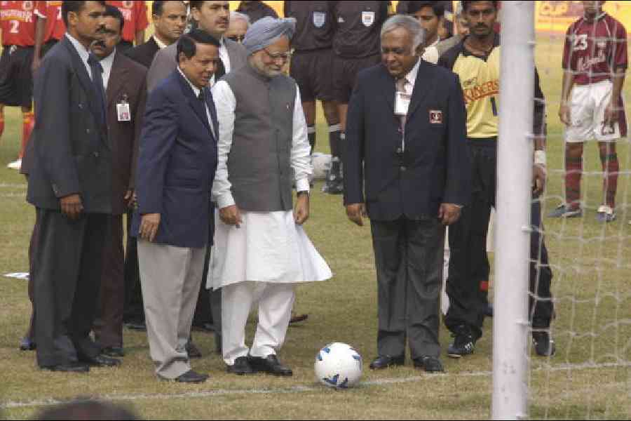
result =
[[[231,72],[245,66],[247,63],[247,51],[245,51],[245,47],[231,39],[224,38],[224,43],[226,44],[226,50],[228,50],[228,57],[230,58]],[[149,73],[147,73],[147,89],[149,92],[153,91],[161,81],[170,76],[177,68],[176,55],[177,42],[158,51],[154,61],[151,63],[151,67],[149,67]]]

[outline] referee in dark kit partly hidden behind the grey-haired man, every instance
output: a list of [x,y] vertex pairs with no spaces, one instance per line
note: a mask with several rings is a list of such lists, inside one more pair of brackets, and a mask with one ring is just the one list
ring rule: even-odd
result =
[[[333,86],[339,107],[341,124],[341,151],[344,151],[346,111],[355,87],[358,72],[381,62],[381,25],[391,14],[390,1],[336,1],[333,15],[335,35],[333,37]],[[332,160],[330,182],[338,185],[336,192],[343,190],[341,161]],[[329,181],[327,181],[329,182]]]

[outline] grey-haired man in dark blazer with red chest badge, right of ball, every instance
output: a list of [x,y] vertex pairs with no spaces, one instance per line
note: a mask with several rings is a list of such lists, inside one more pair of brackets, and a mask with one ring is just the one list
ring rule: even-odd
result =
[[[377,272],[379,356],[373,369],[442,371],[439,296],[445,225],[470,196],[466,113],[458,78],[416,55],[421,24],[395,15],[381,31],[381,65],[358,76],[348,107],[346,213],[367,213]],[[365,193],[364,193],[365,192]]]

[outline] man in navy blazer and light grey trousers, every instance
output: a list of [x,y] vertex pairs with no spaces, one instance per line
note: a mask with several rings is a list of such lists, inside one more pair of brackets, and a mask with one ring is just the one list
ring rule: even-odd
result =
[[204,382],[191,370],[191,332],[212,226],[210,189],[219,124],[205,88],[219,42],[195,30],[177,43],[178,67],[149,96],[140,138],[137,213],[140,283],[151,359],[161,379]]

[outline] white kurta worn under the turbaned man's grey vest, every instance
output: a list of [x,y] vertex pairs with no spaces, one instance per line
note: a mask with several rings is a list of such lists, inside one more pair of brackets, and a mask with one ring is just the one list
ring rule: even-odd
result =
[[[235,204],[227,167],[232,147],[236,98],[226,81],[212,88],[217,118],[217,173],[212,196],[219,208]],[[294,106],[291,165],[299,191],[308,191],[308,177],[313,173],[310,146],[300,93]],[[238,205],[238,203],[236,203]],[[215,246],[212,248],[208,288],[220,288],[244,281],[299,283],[324,281],[331,269],[309,241],[304,229],[294,222],[291,210],[280,212],[241,212],[239,228],[215,218]]]

